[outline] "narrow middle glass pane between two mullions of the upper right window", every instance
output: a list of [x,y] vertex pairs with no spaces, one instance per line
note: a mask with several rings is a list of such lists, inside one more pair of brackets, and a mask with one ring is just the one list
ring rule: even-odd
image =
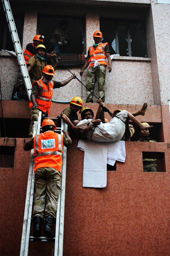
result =
[[120,56],[129,56],[127,22],[118,22],[118,45]]

